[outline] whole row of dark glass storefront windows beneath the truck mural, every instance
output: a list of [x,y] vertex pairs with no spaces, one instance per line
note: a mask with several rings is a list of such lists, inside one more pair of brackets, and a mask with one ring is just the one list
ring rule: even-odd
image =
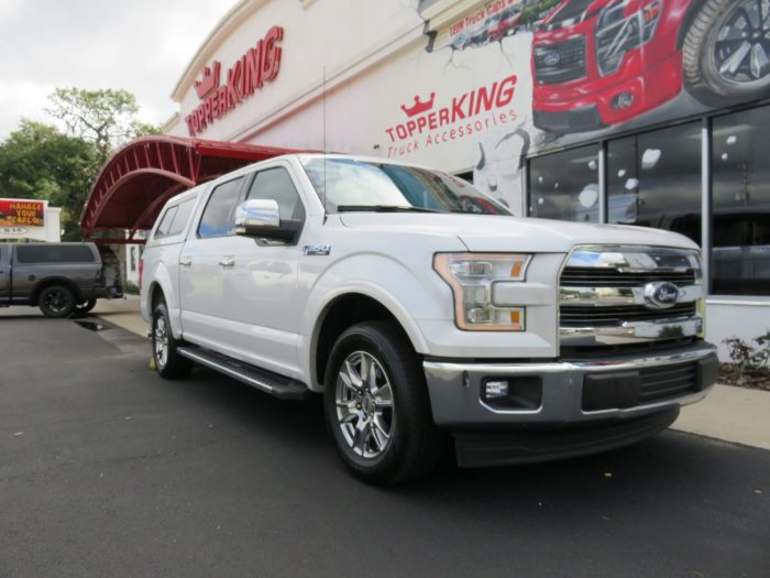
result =
[[704,157],[704,126],[694,121],[530,159],[529,216],[598,222],[606,201],[607,222],[667,229],[701,243],[707,163],[710,293],[770,296],[770,106],[712,118],[711,157]]

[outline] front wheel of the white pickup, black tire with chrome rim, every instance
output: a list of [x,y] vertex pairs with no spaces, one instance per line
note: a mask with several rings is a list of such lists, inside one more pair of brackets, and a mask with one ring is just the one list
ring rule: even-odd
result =
[[[370,368],[374,368],[372,379],[367,371],[360,372],[367,373],[359,378],[369,382],[362,383],[361,390],[348,386],[341,377],[351,374],[343,368],[345,361],[356,366],[356,359],[367,359]],[[324,383],[327,427],[342,461],[360,479],[392,486],[424,476],[441,458],[443,436],[433,424],[422,367],[396,324],[367,321],[348,328],[332,348]],[[386,383],[391,393],[389,413]],[[374,395],[375,390],[383,392],[382,395]],[[359,391],[363,393],[359,395]],[[370,427],[362,430],[367,427],[364,416]],[[383,443],[385,429],[388,436]]]

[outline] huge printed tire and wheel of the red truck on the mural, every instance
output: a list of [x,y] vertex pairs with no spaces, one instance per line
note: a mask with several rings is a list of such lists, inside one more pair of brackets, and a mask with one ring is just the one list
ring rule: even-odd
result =
[[[761,30],[761,23],[757,31],[739,28],[749,23],[744,8],[750,3],[756,0],[706,0],[688,29],[682,46],[684,86],[704,105],[722,107],[770,96],[770,67],[752,69],[750,52],[756,46],[770,55],[770,31]],[[732,30],[737,40],[719,39]],[[748,36],[740,36],[743,32]],[[732,66],[723,70],[730,57],[739,61],[735,70]]]

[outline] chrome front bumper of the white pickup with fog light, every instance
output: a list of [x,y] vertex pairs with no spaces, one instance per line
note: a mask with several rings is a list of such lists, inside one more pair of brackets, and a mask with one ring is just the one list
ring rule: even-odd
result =
[[[424,362],[433,421],[449,429],[548,428],[631,419],[703,399],[716,382],[716,348],[698,342],[649,357],[546,363]],[[669,372],[670,370],[670,372]],[[676,383],[681,375],[689,375]],[[524,403],[490,402],[488,380],[526,383]],[[666,394],[673,382],[673,393]],[[540,397],[532,395],[540,390]],[[652,399],[650,399],[652,392]],[[617,406],[613,401],[617,401]],[[588,406],[602,408],[586,408]]]

